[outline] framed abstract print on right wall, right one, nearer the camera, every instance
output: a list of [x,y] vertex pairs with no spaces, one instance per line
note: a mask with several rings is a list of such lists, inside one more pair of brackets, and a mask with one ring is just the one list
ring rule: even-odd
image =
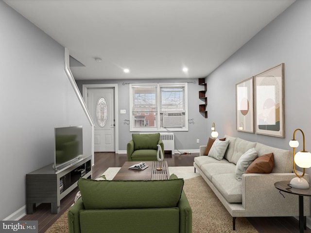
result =
[[255,133],[285,137],[284,63],[254,76]]

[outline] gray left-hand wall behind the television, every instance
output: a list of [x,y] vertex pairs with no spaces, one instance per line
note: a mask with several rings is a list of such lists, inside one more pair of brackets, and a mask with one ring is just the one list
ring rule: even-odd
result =
[[[54,127],[91,128],[64,71],[64,48],[0,1],[0,219],[25,214],[25,176],[53,162]],[[12,219],[13,220],[13,219]]]

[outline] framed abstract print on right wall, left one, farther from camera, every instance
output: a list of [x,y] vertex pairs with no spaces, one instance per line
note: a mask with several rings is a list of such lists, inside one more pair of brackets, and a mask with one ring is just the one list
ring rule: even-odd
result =
[[236,84],[236,129],[254,133],[254,78]]

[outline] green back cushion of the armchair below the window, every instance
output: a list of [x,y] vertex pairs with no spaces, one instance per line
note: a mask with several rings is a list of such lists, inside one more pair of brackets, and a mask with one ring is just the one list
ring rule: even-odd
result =
[[160,133],[132,134],[134,150],[157,150]]

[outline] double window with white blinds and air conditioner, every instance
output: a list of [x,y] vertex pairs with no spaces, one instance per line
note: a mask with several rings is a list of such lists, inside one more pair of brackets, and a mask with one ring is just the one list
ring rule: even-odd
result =
[[131,131],[188,131],[187,83],[130,84]]

